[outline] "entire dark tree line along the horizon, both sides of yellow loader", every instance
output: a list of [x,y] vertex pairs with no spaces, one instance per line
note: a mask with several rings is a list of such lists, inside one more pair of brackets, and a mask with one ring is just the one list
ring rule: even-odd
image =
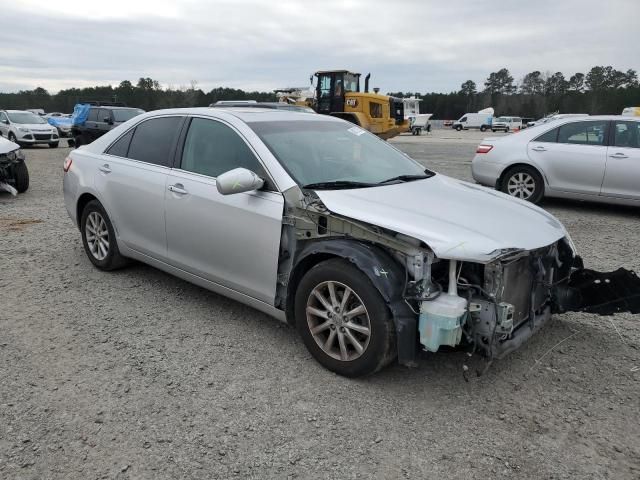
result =
[[[593,67],[587,74],[575,73],[568,79],[562,72],[533,71],[518,83],[509,70],[492,72],[478,90],[475,82],[467,80],[460,90],[451,93],[392,92],[395,97],[416,96],[423,101],[420,111],[432,113],[433,118],[457,119],[467,112],[493,107],[496,115],[539,118],[548,113],[619,114],[625,107],[640,106],[640,85],[635,70],[626,72],[610,66]],[[123,80],[111,85],[89,88],[70,88],[52,95],[44,88],[17,93],[0,93],[0,108],[42,108],[47,112],[71,112],[81,101],[119,101],[144,110],[159,108],[207,106],[218,100],[257,100],[273,102],[272,92],[247,92],[218,87],[209,92],[189,86],[162,88],[157,80],[140,78],[136,84]]]

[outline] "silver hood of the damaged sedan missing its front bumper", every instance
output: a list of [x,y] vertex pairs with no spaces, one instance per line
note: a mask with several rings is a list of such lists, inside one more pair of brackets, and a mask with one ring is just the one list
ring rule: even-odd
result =
[[422,240],[439,258],[487,263],[567,235],[531,203],[444,175],[316,194],[331,212]]

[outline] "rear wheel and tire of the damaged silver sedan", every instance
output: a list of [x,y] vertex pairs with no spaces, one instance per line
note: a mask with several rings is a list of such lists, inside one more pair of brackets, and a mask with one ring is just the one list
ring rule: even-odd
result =
[[115,270],[127,264],[120,255],[115,230],[102,204],[92,200],[84,207],[80,220],[84,251],[100,270]]

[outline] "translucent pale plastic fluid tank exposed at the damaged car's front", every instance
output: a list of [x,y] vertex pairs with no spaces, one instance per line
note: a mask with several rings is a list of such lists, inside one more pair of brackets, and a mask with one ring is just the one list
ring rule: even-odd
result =
[[462,338],[462,323],[467,314],[467,301],[458,295],[443,293],[420,304],[420,343],[429,352],[441,345],[455,347]]

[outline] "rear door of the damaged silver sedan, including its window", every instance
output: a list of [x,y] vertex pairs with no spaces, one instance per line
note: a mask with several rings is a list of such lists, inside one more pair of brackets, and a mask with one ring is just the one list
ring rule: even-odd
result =
[[118,238],[166,260],[164,197],[182,116],[150,118],[124,133],[97,160],[95,187]]

